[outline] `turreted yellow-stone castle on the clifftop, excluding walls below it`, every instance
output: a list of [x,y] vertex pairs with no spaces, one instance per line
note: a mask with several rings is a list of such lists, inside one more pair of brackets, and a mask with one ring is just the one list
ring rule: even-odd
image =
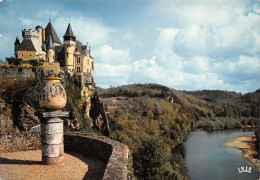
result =
[[85,73],[93,76],[94,64],[90,54],[90,46],[83,45],[76,40],[70,23],[61,43],[51,21],[44,29],[36,26],[35,30],[22,30],[23,41],[16,37],[14,43],[14,57],[23,61],[39,60],[43,62],[59,62],[61,67],[71,75]]

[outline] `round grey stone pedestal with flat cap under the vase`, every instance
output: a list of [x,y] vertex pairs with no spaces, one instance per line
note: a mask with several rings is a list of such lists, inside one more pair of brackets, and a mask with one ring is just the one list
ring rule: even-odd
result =
[[63,164],[63,118],[68,112],[41,113],[42,162],[46,165]]

